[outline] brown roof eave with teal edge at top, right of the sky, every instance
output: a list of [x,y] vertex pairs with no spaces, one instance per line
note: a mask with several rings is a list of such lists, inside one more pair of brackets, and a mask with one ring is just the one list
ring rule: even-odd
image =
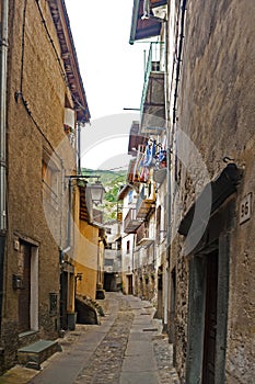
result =
[[[165,5],[166,0],[150,0],[150,9]],[[137,39],[149,38],[159,36],[161,32],[162,23],[153,18],[143,19],[144,14],[144,0],[134,0],[132,8],[132,21],[129,43],[134,44]],[[151,13],[152,15],[152,13]]]

